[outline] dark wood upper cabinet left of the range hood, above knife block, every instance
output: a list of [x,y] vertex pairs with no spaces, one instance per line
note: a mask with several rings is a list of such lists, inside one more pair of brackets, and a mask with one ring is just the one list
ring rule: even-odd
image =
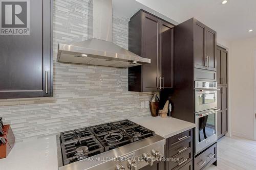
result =
[[52,1],[30,1],[30,35],[0,35],[0,99],[53,95]]

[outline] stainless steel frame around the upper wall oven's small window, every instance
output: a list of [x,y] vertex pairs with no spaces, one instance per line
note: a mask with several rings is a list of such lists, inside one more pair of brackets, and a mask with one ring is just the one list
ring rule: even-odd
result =
[[[198,99],[197,96],[198,94],[206,94],[206,93],[215,93],[216,96],[216,100],[214,103],[210,103],[210,104],[204,104],[204,105],[198,105]],[[215,109],[217,108],[217,89],[212,89],[212,90],[195,90],[195,112],[201,112],[201,111],[205,111],[205,110],[210,110],[210,109]]]

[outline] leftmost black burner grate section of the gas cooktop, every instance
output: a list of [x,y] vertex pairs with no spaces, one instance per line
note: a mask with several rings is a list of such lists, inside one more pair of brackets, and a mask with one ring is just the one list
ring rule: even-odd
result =
[[61,143],[64,165],[81,161],[104,152],[104,147],[95,136],[79,138]]

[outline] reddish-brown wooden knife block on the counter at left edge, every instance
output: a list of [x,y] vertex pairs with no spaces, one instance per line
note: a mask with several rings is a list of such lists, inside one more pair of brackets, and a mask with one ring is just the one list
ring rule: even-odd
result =
[[8,154],[11,152],[11,149],[14,147],[14,143],[15,143],[15,137],[10,125],[4,125],[3,130],[4,130],[4,136],[2,137],[5,138],[6,143],[5,144],[2,143],[0,145],[0,159],[6,158],[8,156]]

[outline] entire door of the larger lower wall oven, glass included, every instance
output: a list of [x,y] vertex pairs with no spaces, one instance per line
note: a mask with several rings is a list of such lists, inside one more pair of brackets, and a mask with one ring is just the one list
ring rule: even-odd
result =
[[217,141],[217,112],[196,114],[196,152]]

